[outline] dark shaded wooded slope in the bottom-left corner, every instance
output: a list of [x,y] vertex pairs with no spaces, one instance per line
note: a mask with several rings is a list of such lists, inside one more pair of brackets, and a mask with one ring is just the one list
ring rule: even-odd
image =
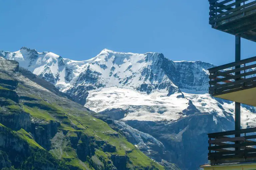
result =
[[[48,154],[47,151],[30,147],[17,133],[1,126],[1,124],[0,150],[0,167],[1,165],[5,165],[5,167],[8,168],[12,165],[14,168],[21,167],[21,169],[30,169],[32,166],[40,170],[57,170],[57,167],[66,169],[60,166],[58,160]],[[34,159],[35,157],[40,159]]]

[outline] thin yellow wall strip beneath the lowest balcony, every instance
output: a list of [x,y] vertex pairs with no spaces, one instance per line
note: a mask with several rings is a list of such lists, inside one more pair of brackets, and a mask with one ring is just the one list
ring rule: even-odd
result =
[[256,163],[248,163],[243,165],[216,165],[216,166],[201,166],[204,170],[256,170]]

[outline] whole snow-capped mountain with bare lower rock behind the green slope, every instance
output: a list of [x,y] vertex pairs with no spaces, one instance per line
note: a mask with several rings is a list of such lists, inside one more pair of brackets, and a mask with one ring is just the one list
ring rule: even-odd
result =
[[[108,49],[84,61],[26,47],[0,51],[0,57],[19,61],[78,103],[116,120],[113,127],[151,158],[184,170],[207,161],[207,133],[234,128],[234,103],[208,94],[209,63]],[[256,126],[254,108],[243,106],[241,113],[243,128]]]

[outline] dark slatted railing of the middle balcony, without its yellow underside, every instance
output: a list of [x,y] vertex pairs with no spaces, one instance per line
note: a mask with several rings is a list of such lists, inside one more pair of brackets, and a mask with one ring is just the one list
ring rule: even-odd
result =
[[208,69],[209,94],[218,96],[256,87],[255,61],[256,56]]

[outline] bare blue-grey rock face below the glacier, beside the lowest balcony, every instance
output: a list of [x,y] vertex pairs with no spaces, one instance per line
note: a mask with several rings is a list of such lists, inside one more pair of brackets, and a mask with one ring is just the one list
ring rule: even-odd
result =
[[152,150],[158,152],[160,158],[175,162],[181,169],[187,169],[187,167],[196,169],[198,165],[207,162],[205,156],[208,153],[207,133],[221,130],[221,127],[215,126],[210,114],[189,116],[170,124],[147,121],[126,121],[125,123],[154,136],[163,143],[165,152],[162,152],[162,148]]

